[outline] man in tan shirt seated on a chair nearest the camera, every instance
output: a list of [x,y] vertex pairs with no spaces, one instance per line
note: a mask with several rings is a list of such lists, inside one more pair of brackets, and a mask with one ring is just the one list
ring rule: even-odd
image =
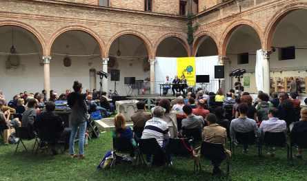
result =
[[[217,124],[217,117],[215,114],[208,114],[207,118],[208,126],[204,127],[203,131],[203,140],[210,143],[219,143],[224,145],[227,138],[226,129]],[[225,149],[226,155],[228,158],[231,156],[231,152]],[[213,174],[221,173],[221,169],[219,169],[222,160],[212,160],[213,165]]]

